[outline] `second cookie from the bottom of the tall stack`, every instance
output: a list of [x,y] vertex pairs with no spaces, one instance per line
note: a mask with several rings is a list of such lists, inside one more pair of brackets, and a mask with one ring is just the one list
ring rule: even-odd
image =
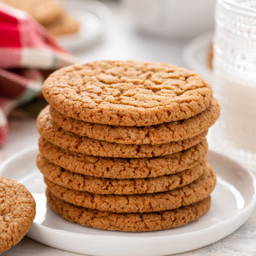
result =
[[44,177],[52,194],[76,206],[108,212],[160,212],[193,204],[207,198],[215,187],[216,176],[208,165],[193,183],[167,192],[134,195],[101,195],[68,189]]

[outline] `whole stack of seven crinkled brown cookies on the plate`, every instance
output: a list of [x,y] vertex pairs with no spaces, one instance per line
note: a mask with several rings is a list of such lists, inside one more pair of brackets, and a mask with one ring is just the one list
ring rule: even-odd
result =
[[216,177],[207,130],[220,107],[210,85],[177,66],[96,61],[44,82],[37,165],[47,202],[88,227],[150,231],[196,221]]

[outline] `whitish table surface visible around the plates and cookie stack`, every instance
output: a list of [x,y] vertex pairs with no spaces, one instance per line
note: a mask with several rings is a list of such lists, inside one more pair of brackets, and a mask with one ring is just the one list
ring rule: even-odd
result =
[[[75,53],[81,61],[97,59],[137,59],[163,61],[184,66],[182,50],[186,40],[157,39],[135,32],[122,9],[114,3],[108,3],[113,12],[113,23],[108,27],[104,39],[96,45]],[[35,145],[38,140],[35,119],[9,120],[9,139],[0,148],[0,163],[16,152]],[[212,148],[212,144],[209,143]],[[218,148],[212,148],[218,150]],[[186,241],[184,241],[185,243]],[[2,256],[75,256],[81,255],[49,247],[24,237],[20,243],[4,252]],[[242,227],[230,236],[209,246],[180,256],[245,256],[256,255],[256,208]]]

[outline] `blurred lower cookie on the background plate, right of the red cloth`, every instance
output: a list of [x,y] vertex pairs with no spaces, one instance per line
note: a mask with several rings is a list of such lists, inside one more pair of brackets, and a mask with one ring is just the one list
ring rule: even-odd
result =
[[57,19],[47,23],[45,28],[53,35],[64,35],[77,32],[79,23],[66,12],[62,12]]

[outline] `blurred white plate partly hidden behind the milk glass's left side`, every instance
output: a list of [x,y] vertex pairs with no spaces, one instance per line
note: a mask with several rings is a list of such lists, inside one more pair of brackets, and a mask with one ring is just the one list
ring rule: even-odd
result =
[[203,76],[209,83],[213,81],[213,72],[208,67],[208,52],[212,42],[213,31],[192,39],[183,50],[183,61],[186,66]]

